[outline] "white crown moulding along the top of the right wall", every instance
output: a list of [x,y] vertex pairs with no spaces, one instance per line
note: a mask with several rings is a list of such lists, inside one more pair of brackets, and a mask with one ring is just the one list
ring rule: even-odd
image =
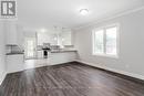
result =
[[115,15],[111,15],[111,17],[106,17],[106,18],[103,18],[103,19],[99,19],[99,20],[96,20],[94,22],[91,22],[89,24],[81,25],[81,26],[78,26],[78,28],[73,28],[73,30],[81,30],[83,28],[88,28],[88,26],[91,26],[91,25],[94,25],[94,24],[97,24],[97,23],[101,23],[101,22],[104,22],[104,21],[107,21],[107,20],[111,20],[111,19],[115,19],[115,18],[120,18],[120,17],[123,17],[123,15],[127,15],[127,14],[141,11],[143,9],[144,9],[144,6],[140,7],[140,8],[136,8],[136,9],[133,9],[133,10],[128,10],[128,11],[122,12],[122,13],[117,13]]

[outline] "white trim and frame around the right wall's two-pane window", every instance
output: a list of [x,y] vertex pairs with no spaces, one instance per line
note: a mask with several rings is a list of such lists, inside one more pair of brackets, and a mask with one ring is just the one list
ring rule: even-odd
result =
[[[116,26],[117,28],[117,32],[116,32],[116,55],[110,55],[110,54],[106,54],[105,53],[105,42],[104,42],[104,53],[103,54],[99,54],[99,53],[94,53],[94,43],[95,43],[95,41],[94,41],[94,38],[95,38],[95,35],[94,35],[94,33],[95,33],[95,31],[99,31],[99,30],[104,30],[104,41],[105,41],[105,29],[109,29],[109,28],[113,28],[113,26]],[[95,56],[104,56],[104,57],[112,57],[112,58],[119,58],[119,56],[120,56],[120,23],[115,23],[115,24],[111,24],[111,25],[105,25],[105,26],[100,26],[100,28],[97,28],[97,29],[94,29],[93,31],[92,31],[92,55],[95,55]]]

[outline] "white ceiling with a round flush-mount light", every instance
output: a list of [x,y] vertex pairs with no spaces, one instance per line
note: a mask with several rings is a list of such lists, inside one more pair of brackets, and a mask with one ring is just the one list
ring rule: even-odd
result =
[[[144,0],[17,0],[18,22],[27,26],[79,28],[144,6]],[[80,9],[89,9],[81,15]]]

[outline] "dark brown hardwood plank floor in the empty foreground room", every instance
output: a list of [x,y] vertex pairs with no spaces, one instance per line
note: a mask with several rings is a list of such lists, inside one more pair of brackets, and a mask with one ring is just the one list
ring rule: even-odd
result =
[[73,62],[8,74],[0,96],[144,96],[144,85]]

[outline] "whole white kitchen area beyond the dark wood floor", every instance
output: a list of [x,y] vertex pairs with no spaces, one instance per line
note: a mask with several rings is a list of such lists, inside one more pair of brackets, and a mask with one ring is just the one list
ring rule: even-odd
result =
[[6,23],[6,26],[9,73],[72,62],[76,58],[71,29],[28,29],[13,21]]

